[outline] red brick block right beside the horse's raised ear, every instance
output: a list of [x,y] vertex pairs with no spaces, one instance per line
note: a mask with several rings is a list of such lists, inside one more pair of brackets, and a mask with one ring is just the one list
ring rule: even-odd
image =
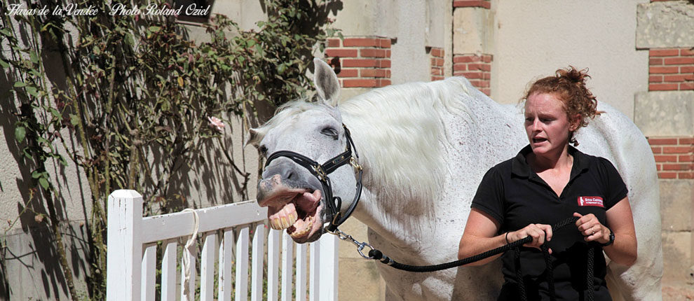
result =
[[390,85],[390,38],[329,38],[325,58],[335,69],[342,87]]

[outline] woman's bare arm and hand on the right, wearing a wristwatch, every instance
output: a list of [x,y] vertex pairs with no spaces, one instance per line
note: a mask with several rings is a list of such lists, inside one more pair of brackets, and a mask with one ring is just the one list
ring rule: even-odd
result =
[[607,224],[610,226],[610,229],[599,223],[592,214],[581,216],[574,213],[573,216],[579,217],[576,225],[581,234],[585,236],[585,241],[597,241],[601,244],[606,244],[610,241],[610,229],[612,230],[615,235],[614,243],[603,247],[603,250],[612,261],[620,265],[633,265],[636,262],[636,230],[634,230],[632,207],[627,197],[608,209]]

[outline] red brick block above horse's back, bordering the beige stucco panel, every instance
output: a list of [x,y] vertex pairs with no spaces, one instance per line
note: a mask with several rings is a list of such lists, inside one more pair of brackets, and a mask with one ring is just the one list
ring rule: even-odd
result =
[[473,86],[489,95],[492,55],[462,54],[453,56],[453,75],[465,76]]

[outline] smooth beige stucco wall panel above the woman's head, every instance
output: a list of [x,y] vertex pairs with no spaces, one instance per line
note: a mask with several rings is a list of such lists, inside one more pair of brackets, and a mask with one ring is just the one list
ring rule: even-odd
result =
[[637,4],[628,1],[492,1],[496,47],[491,98],[516,103],[536,76],[589,68],[598,101],[633,118],[634,94],[648,90],[648,51],[636,50]]

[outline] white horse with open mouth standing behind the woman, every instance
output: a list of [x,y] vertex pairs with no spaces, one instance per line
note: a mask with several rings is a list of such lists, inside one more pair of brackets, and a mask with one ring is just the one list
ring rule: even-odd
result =
[[[369,243],[409,265],[456,260],[484,172],[528,144],[519,107],[497,104],[461,77],[382,87],[339,102],[334,71],[314,62],[318,102],[286,104],[251,130],[252,144],[266,155],[294,151],[322,164],[345,151],[345,125],[364,171],[353,216],[368,226]],[[660,203],[651,148],[622,113],[602,102],[598,109],[606,113],[578,132],[578,148],[617,167],[629,188],[639,243],[632,267],[608,264],[608,286],[615,300],[661,300]],[[328,176],[344,211],[355,195],[353,167]],[[323,190],[308,169],[280,157],[262,174],[258,200],[269,207],[273,228],[286,228],[298,242],[314,241],[332,219]],[[495,300],[502,281],[499,260],[429,273],[376,264],[388,300]]]

